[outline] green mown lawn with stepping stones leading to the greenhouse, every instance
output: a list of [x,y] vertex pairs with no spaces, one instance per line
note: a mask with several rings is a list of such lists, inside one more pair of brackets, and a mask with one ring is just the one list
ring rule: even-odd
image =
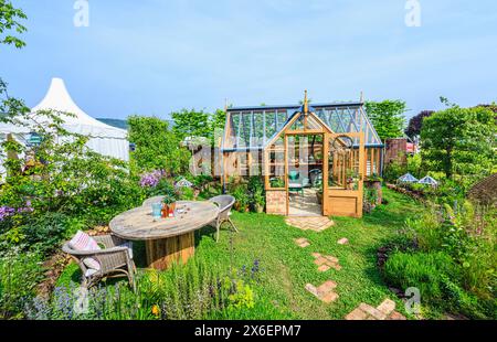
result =
[[[322,233],[303,232],[285,224],[284,217],[266,214],[233,214],[240,233],[221,233],[220,243],[213,241],[212,228],[197,234],[195,258],[226,272],[232,266],[252,267],[260,260],[261,280],[254,287],[256,307],[247,310],[246,319],[343,319],[359,303],[380,304],[385,298],[402,301],[389,291],[377,267],[377,249],[389,242],[402,227],[406,217],[415,215],[422,206],[398,193],[384,190],[389,204],[363,218],[334,217],[336,225]],[[231,253],[232,236],[233,253]],[[311,246],[298,247],[294,239],[306,237]],[[347,237],[348,245],[337,241]],[[311,253],[338,257],[342,269],[319,272]],[[137,246],[137,264],[142,265],[142,246]],[[67,267],[59,285],[77,279],[77,267]],[[319,286],[326,280],[338,284],[339,299],[325,304],[305,290],[310,282]]]

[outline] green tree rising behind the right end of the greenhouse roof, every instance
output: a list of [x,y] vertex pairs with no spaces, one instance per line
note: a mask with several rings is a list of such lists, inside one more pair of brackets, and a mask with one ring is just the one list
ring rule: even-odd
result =
[[405,125],[405,101],[387,99],[381,103],[367,101],[366,111],[381,140],[403,135]]

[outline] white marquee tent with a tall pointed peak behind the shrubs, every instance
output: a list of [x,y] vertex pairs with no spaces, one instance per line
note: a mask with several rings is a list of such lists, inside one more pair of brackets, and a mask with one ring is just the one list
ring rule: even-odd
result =
[[[52,109],[55,111],[71,113],[73,116],[64,116],[63,127],[73,133],[88,136],[87,147],[104,156],[129,160],[129,142],[127,131],[101,122],[84,113],[71,98],[65,88],[64,81],[53,78],[50,89],[43,100],[32,108],[32,115],[39,110]],[[29,127],[0,124],[0,140],[4,140],[7,135],[12,133],[18,141],[28,140],[31,130]],[[0,169],[2,169],[0,167]],[[0,170],[3,171],[3,170]]]

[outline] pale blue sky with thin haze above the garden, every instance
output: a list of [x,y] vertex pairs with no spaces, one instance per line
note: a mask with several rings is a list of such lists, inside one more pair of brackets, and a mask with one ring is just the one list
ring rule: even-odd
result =
[[412,116],[497,101],[497,1],[14,0],[28,46],[0,46],[0,76],[36,105],[51,77],[65,79],[94,117],[167,117],[181,108],[400,98]]

